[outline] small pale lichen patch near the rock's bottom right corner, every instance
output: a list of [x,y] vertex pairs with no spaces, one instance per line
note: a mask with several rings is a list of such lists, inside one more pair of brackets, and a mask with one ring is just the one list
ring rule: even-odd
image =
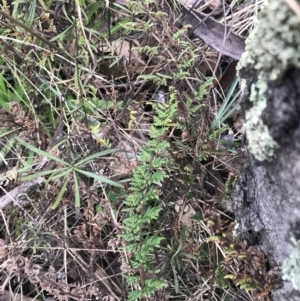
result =
[[292,243],[293,251],[283,262],[282,279],[291,281],[294,289],[300,291],[300,243],[295,238],[292,238]]

